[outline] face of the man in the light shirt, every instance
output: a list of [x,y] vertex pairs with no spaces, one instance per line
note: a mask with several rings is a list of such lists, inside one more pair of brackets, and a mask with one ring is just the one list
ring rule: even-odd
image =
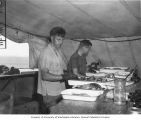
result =
[[64,37],[56,35],[52,36],[51,39],[55,47],[60,48],[63,44]]

